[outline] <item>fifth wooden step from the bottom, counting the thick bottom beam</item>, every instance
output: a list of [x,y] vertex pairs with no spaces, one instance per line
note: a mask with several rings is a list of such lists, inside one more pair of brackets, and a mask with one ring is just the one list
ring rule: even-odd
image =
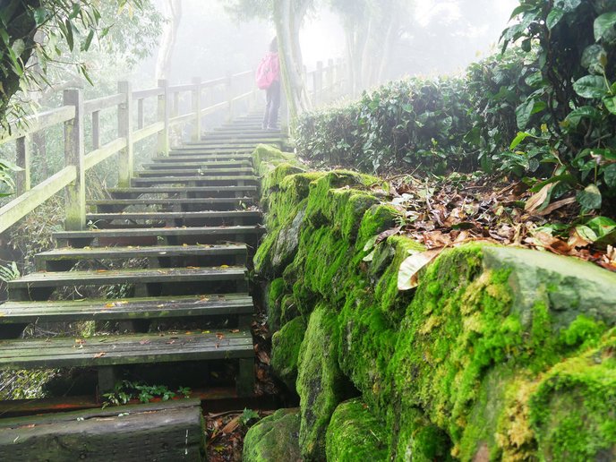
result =
[[[37,270],[53,270],[50,266],[59,263],[74,264],[76,261],[116,260],[133,258],[167,259],[182,258],[227,258],[239,264],[245,261],[247,248],[244,244],[229,245],[154,245],[150,247],[88,247],[73,249],[64,247],[35,256]],[[228,262],[227,261],[227,262]],[[0,320],[2,321],[2,320]]]

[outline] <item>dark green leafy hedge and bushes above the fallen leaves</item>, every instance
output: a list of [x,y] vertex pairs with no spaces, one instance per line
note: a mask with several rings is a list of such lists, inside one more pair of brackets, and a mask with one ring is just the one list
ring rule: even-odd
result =
[[376,173],[483,170],[616,196],[616,1],[522,0],[502,52],[459,77],[408,78],[297,124],[298,154]]

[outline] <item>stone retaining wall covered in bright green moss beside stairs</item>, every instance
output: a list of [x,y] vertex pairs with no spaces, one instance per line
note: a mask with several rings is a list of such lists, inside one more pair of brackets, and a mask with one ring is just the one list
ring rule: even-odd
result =
[[616,275],[466,244],[399,292],[400,262],[421,246],[374,245],[397,220],[387,184],[306,172],[267,147],[255,161],[268,226],[255,268],[274,281],[274,370],[292,387],[297,369],[304,458],[345,459],[345,427],[377,423],[385,447],[357,442],[362,458],[616,458]]

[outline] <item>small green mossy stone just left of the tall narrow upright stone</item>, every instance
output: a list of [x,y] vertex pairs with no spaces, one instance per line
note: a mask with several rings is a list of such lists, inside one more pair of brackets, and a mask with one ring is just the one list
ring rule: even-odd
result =
[[304,340],[306,323],[303,318],[287,322],[271,338],[271,368],[287,388],[295,391],[297,360]]

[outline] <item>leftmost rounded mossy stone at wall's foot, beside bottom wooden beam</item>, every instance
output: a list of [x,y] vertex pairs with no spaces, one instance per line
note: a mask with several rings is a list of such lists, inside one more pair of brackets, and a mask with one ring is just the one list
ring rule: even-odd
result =
[[301,460],[299,453],[299,409],[278,409],[246,433],[244,462]]

